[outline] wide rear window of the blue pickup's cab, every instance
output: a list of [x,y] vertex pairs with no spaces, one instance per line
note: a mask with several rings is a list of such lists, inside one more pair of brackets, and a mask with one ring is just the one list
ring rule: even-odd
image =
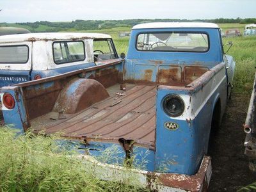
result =
[[209,40],[205,33],[141,33],[136,48],[138,51],[207,52]]

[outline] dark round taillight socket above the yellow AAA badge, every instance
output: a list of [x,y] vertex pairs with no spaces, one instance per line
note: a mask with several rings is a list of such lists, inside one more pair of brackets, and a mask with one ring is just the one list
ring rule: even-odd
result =
[[178,95],[167,95],[163,100],[163,109],[169,116],[180,116],[184,111],[184,102]]

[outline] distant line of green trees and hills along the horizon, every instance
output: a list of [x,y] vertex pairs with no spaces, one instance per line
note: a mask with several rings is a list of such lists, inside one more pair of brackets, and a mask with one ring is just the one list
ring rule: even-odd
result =
[[[81,31],[93,29],[110,29],[117,27],[132,27],[136,24],[144,22],[214,22],[220,23],[256,23],[256,18],[241,19],[125,19],[125,20],[72,20],[71,22],[49,22],[49,21],[36,21],[36,22],[22,22],[15,23],[17,26],[22,26],[29,29],[31,32],[54,32],[54,31]],[[8,23],[0,23],[0,26],[10,26]],[[12,24],[13,26],[13,24]]]

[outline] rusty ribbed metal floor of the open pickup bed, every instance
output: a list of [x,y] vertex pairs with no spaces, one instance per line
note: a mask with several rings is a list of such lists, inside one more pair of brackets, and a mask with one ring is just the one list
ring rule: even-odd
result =
[[107,99],[72,115],[47,113],[33,119],[32,128],[36,133],[61,132],[79,140],[118,142],[124,138],[154,149],[156,86],[126,84],[126,89],[121,91],[120,84],[115,84],[107,88]]

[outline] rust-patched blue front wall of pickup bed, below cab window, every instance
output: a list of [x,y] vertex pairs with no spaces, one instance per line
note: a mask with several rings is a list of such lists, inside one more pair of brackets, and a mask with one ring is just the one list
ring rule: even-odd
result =
[[132,62],[134,63],[129,63],[129,65],[134,65],[134,68],[129,69],[129,74],[125,70],[124,74],[124,81],[127,83],[184,87],[209,70],[200,62],[183,63],[182,65],[164,63],[161,60],[150,60],[147,64]]

